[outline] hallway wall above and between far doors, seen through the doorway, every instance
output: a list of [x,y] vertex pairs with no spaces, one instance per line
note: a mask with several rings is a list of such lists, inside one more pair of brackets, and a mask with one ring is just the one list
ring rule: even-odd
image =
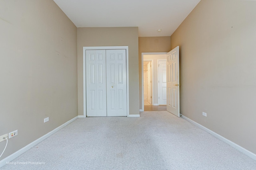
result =
[[154,95],[153,95],[153,102],[152,104],[158,105],[158,60],[166,59],[166,55],[143,55],[143,60],[152,60],[153,61],[153,87],[154,88]]

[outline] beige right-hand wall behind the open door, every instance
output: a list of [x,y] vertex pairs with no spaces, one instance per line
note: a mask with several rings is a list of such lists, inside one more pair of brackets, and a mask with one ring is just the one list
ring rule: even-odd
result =
[[256,154],[255,9],[256,1],[201,0],[171,47],[180,46],[180,112]]

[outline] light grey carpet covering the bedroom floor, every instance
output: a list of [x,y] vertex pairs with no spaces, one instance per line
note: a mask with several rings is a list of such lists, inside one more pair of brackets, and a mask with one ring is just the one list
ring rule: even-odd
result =
[[256,161],[167,111],[70,123],[2,170],[256,170]]

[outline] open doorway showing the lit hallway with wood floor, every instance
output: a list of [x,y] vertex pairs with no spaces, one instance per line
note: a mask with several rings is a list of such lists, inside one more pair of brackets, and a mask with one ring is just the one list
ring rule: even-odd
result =
[[142,53],[141,111],[166,110],[166,54]]

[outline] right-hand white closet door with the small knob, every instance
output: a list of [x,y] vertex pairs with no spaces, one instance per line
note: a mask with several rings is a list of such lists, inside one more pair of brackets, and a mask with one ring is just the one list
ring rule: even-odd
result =
[[127,116],[126,50],[106,50],[107,115]]

